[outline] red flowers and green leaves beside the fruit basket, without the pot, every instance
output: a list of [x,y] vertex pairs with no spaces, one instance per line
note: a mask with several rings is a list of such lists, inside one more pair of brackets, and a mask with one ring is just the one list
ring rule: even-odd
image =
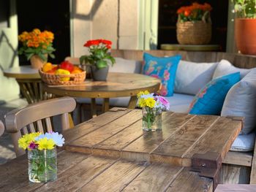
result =
[[[110,55],[112,42],[106,39],[89,40],[83,45],[89,48],[89,55],[82,55],[80,57],[80,64],[90,64],[102,69],[108,64],[115,64],[115,59]],[[108,62],[110,61],[110,62]]]

